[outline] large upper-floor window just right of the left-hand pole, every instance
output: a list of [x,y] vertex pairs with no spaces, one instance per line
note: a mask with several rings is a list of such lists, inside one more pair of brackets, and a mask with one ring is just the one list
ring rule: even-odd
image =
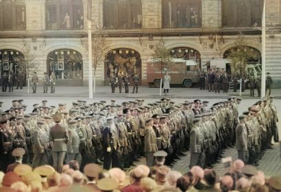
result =
[[106,29],[138,29],[143,25],[141,0],[104,0]]

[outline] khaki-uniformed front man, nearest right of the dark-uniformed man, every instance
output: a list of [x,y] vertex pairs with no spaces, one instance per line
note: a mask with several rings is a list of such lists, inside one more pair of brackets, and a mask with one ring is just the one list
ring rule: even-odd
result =
[[156,145],[156,134],[152,125],[154,124],[153,119],[147,119],[145,121],[145,156],[147,167],[152,167],[154,163],[154,153],[158,151]]

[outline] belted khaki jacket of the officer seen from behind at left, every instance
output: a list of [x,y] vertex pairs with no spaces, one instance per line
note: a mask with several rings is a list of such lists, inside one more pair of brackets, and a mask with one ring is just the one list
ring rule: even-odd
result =
[[69,134],[66,128],[60,124],[51,127],[49,141],[53,142],[53,152],[66,152],[66,143],[69,142]]

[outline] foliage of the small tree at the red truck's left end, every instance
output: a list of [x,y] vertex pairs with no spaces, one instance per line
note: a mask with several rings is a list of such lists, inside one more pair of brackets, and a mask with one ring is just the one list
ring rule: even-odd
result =
[[152,60],[154,60],[156,71],[161,71],[162,73],[165,69],[169,70],[171,68],[173,57],[170,50],[165,46],[164,40],[160,40],[156,45]]

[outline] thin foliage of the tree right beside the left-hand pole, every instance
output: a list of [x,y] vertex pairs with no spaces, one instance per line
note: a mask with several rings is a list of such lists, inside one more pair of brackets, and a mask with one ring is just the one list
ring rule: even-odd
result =
[[92,65],[94,68],[94,75],[96,74],[97,66],[104,62],[108,50],[108,43],[106,38],[108,34],[103,29],[96,29],[92,37]]

